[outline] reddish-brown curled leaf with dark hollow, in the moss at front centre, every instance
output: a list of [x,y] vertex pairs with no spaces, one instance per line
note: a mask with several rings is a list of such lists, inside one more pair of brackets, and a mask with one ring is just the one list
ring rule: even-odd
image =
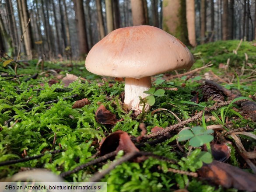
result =
[[105,138],[100,146],[100,154],[105,155],[112,151],[123,150],[125,153],[139,151],[131,141],[130,136],[124,131],[116,131]]

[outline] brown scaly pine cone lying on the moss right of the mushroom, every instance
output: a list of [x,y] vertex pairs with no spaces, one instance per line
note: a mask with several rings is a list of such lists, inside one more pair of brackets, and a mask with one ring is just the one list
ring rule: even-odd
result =
[[223,102],[224,96],[222,92],[214,85],[212,84],[204,84],[200,87],[203,91],[203,100],[213,100],[216,102]]

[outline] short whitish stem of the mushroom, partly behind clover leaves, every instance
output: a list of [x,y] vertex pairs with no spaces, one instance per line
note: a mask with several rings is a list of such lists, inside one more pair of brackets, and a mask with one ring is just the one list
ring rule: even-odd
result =
[[[140,105],[140,98],[147,97],[148,94],[143,93],[152,87],[151,78],[143,77],[141,79],[125,78],[124,86],[124,104],[127,108],[134,109],[135,111],[141,111],[143,106]],[[146,105],[145,111],[150,108]]]

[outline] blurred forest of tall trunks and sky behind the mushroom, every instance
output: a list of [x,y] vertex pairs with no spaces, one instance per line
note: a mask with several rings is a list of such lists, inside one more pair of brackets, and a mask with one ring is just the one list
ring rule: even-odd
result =
[[0,56],[84,58],[109,32],[133,25],[162,28],[187,46],[252,41],[255,12],[255,0],[0,0]]

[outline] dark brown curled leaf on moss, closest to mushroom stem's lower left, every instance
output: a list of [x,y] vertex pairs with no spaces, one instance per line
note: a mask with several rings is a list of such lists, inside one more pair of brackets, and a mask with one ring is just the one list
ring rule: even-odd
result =
[[116,119],[116,115],[107,110],[104,105],[98,107],[95,113],[95,119],[97,122],[107,125],[116,125],[116,122],[123,121],[123,119]]

